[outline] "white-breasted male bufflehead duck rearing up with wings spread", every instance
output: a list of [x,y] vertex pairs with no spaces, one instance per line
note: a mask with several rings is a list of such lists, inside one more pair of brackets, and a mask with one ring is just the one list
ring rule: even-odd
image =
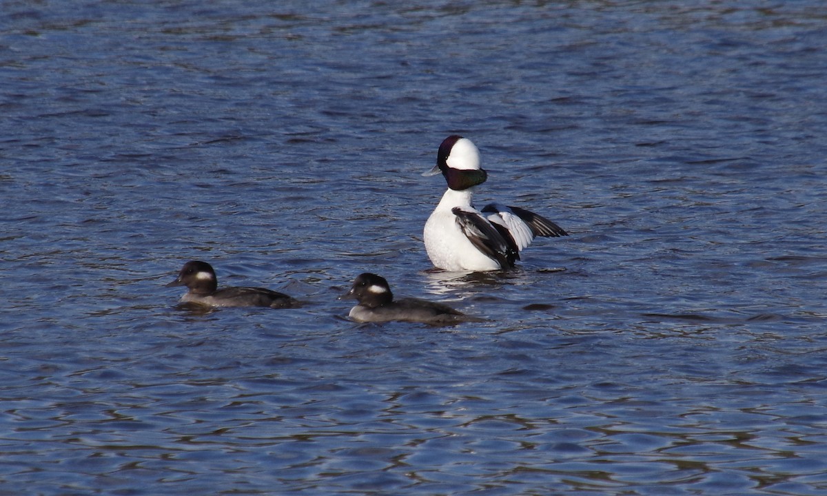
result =
[[568,236],[554,222],[523,208],[499,203],[474,208],[471,194],[488,173],[480,168],[480,151],[468,138],[452,135],[442,141],[437,165],[423,175],[439,173],[448,190],[428,217],[423,239],[428,258],[440,269],[509,269],[534,236]]

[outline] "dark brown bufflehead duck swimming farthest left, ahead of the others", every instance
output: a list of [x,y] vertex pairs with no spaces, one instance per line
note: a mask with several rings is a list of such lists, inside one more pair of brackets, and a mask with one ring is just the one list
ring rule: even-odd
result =
[[166,287],[186,286],[179,303],[197,303],[210,307],[270,307],[294,308],[298,303],[286,294],[276,293],[265,288],[222,288],[218,289],[218,279],[213,266],[200,260],[191,260],[184,264],[178,278]]

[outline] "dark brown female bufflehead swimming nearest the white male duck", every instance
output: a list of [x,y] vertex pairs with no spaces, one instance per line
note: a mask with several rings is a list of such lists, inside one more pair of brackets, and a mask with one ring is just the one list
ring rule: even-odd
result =
[[351,290],[339,299],[356,298],[359,304],[351,308],[348,317],[356,322],[423,322],[432,325],[456,324],[459,322],[485,322],[485,319],[471,317],[442,303],[429,302],[418,298],[394,300],[388,281],[376,274],[359,274]]

